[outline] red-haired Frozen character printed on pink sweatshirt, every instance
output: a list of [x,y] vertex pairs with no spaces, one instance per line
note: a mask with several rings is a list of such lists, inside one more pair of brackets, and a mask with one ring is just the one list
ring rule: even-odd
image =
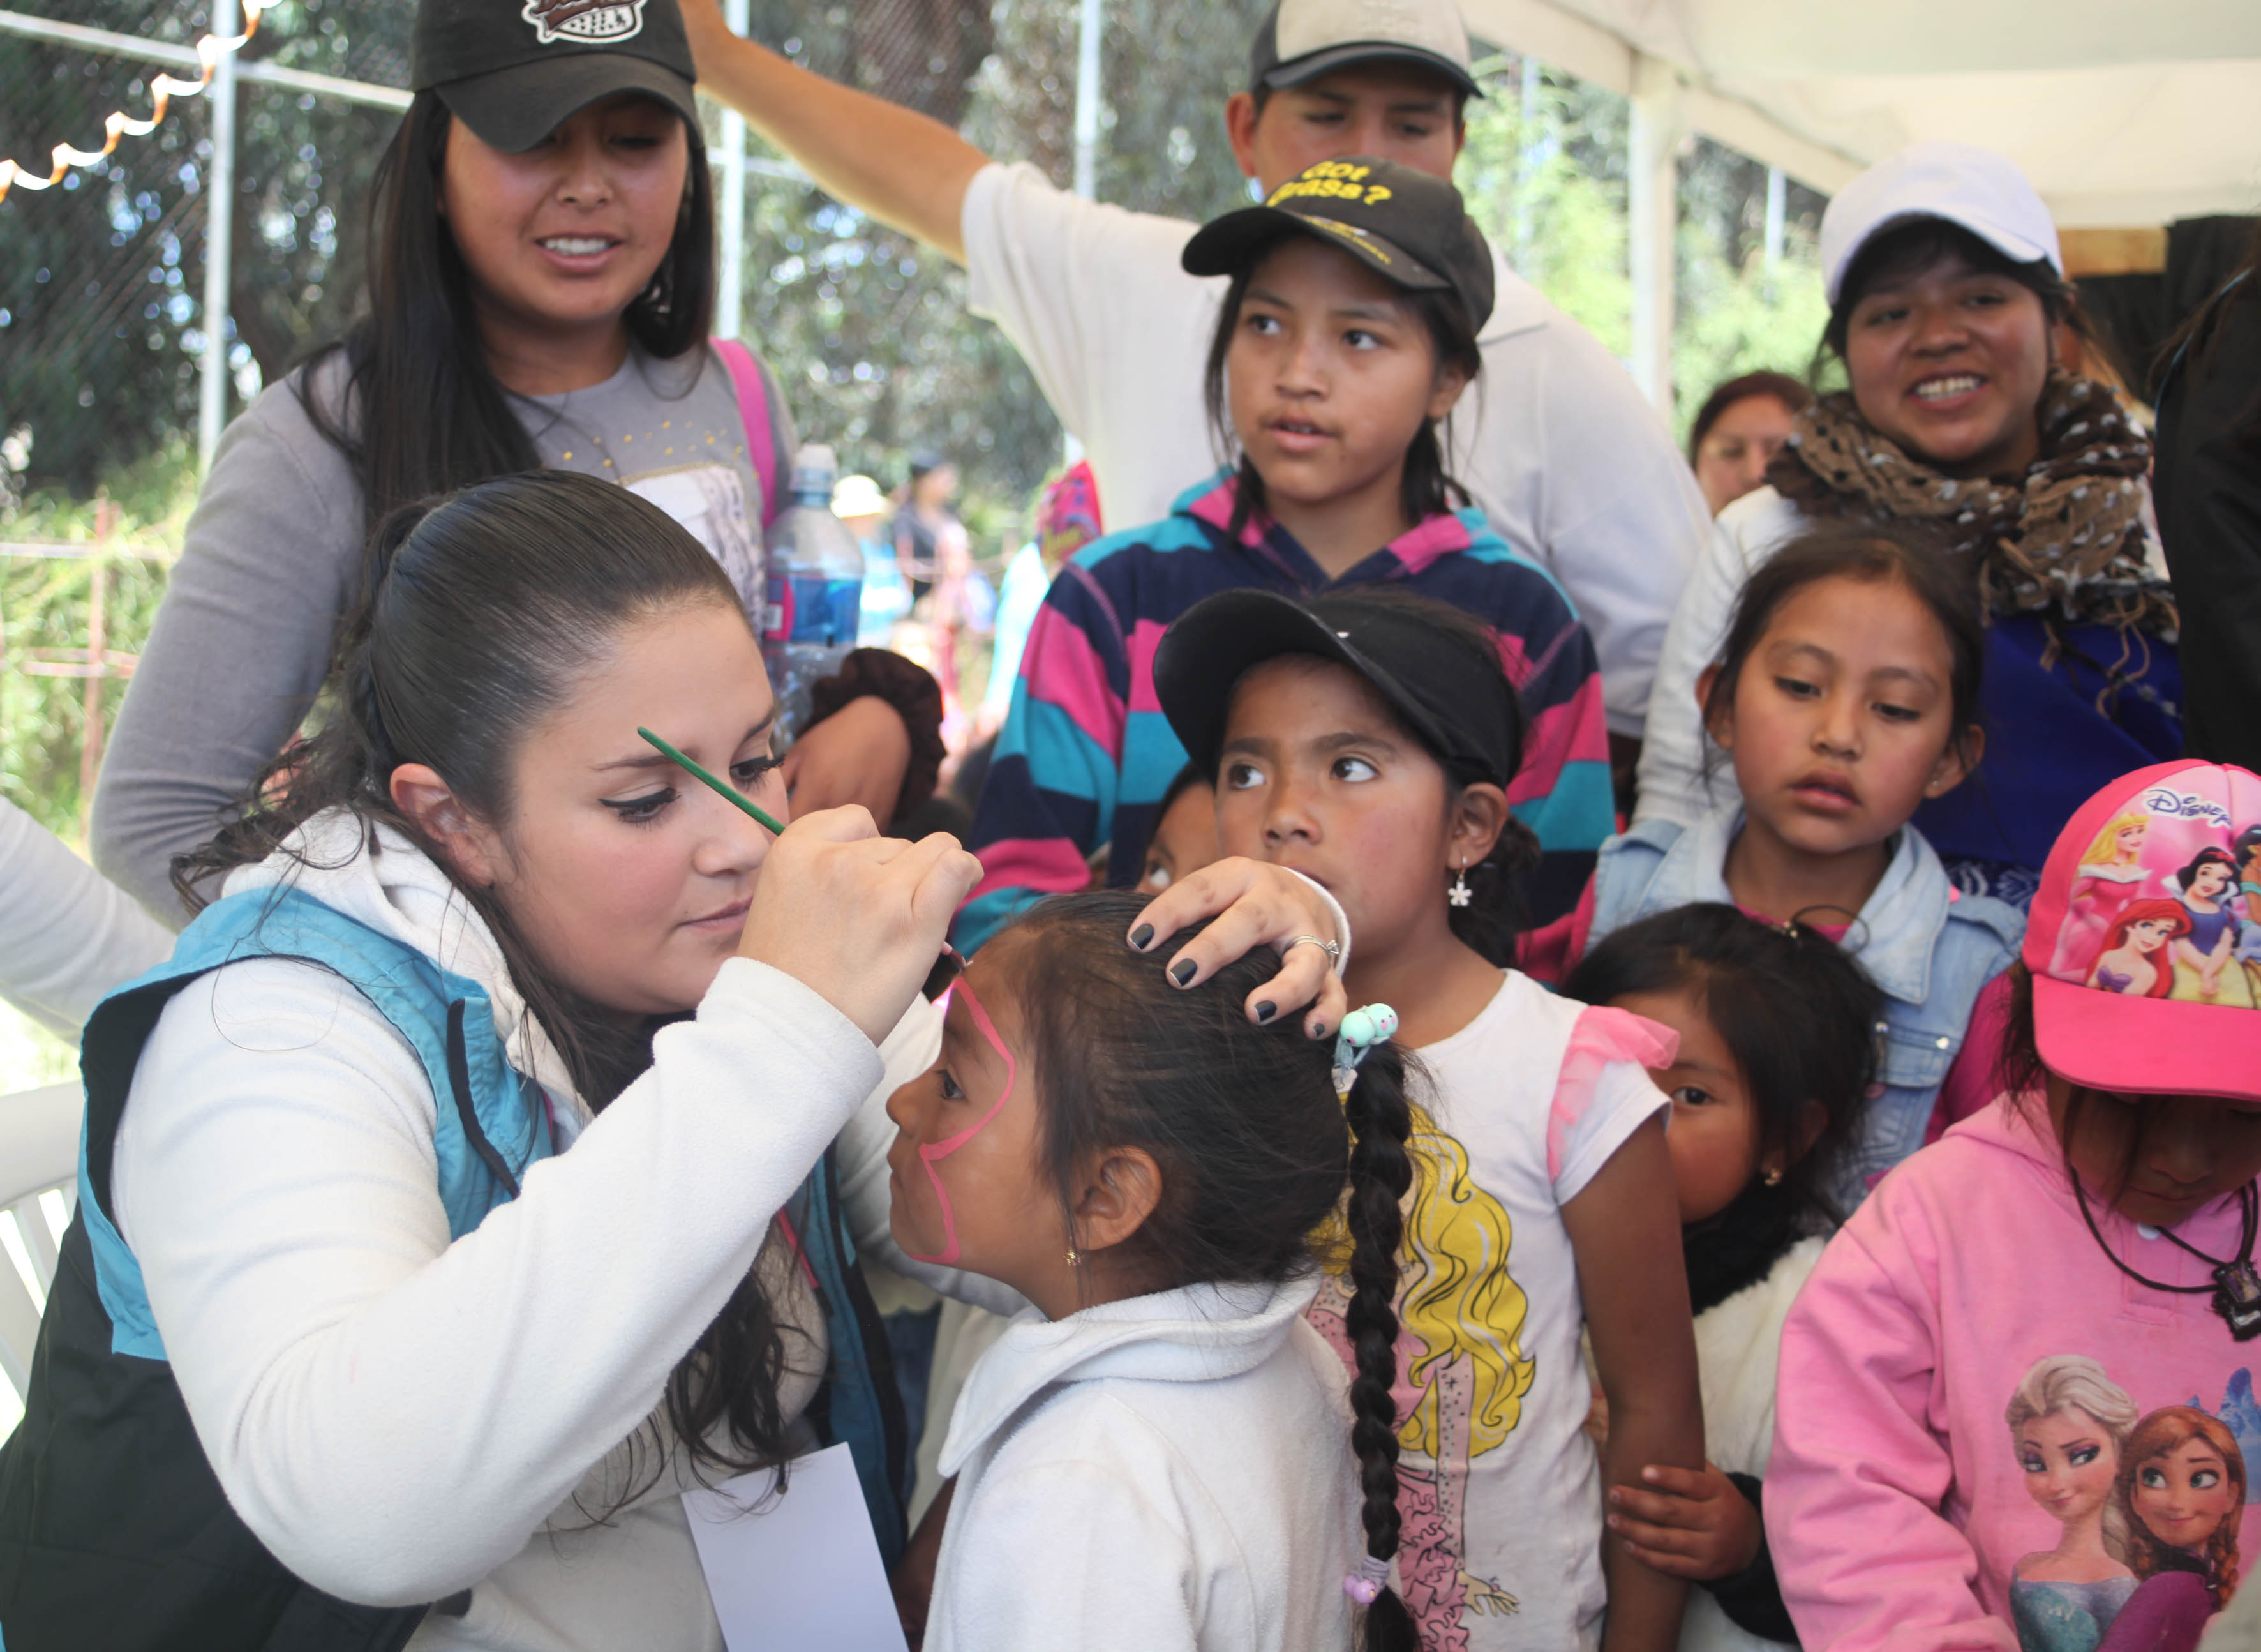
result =
[[2220,1417],[2168,1405],[2121,1448],[2112,1507],[2141,1580],[2098,1652],[2195,1652],[2238,1586],[2245,1453]]

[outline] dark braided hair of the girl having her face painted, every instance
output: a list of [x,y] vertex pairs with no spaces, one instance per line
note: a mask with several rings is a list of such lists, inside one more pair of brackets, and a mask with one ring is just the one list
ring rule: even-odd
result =
[[[1393,1387],[1400,1199],[1413,1184],[1409,1057],[1375,1046],[1339,1100],[1332,1041],[1302,1036],[1293,1016],[1259,1027],[1241,1007],[1280,955],[1257,948],[1180,991],[1121,941],[1144,905],[1146,896],[1115,889],[1054,896],[990,941],[1011,975],[1042,982],[1020,993],[1020,1014],[1063,1242],[1076,1245],[1067,1211],[1078,1175],[1126,1145],[1162,1170],[1160,1204],[1126,1240],[1155,1290],[1280,1283],[1314,1265],[1311,1236],[1341,1206],[1354,1285],[1350,1444],[1366,1552],[1386,1561],[1400,1532]],[[1418,1652],[1420,1634],[1395,1591],[1368,1607],[1361,1645]]]

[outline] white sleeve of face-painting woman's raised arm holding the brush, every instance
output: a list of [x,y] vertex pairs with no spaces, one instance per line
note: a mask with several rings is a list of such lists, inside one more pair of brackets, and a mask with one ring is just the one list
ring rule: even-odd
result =
[[877,1077],[832,1005],[730,960],[450,1242],[409,1046],[326,971],[231,964],[149,1036],[113,1211],[228,1503],[319,1589],[409,1604],[516,1555],[651,1414]]

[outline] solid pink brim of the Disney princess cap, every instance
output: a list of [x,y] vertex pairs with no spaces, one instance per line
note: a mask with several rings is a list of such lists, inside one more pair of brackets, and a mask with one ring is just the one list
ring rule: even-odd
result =
[[[2110,998],[2110,1007],[2098,998]],[[2128,998],[2037,973],[2033,1041],[2051,1073],[2091,1091],[2261,1098],[2254,1009]]]

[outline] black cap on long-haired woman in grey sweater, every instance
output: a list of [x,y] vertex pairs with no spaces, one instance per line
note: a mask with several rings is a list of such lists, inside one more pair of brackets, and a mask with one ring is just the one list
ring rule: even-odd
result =
[[676,0],[418,0],[409,86],[504,154],[531,149],[615,93],[647,93],[699,124]]

